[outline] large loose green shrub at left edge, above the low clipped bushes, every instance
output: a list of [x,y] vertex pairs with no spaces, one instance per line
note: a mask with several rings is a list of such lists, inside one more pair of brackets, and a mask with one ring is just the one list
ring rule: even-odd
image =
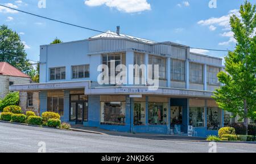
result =
[[3,100],[0,101],[0,111],[6,106],[18,105],[19,104],[19,92],[8,93]]

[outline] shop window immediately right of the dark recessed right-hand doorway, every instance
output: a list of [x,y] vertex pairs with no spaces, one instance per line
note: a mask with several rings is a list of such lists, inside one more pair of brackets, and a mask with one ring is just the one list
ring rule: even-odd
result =
[[189,107],[189,125],[204,127],[204,107]]

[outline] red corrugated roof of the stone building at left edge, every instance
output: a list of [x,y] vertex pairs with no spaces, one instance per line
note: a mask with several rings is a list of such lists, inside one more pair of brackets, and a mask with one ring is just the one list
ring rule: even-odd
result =
[[30,76],[24,74],[22,71],[18,70],[17,68],[11,66],[11,64],[6,62],[0,62],[0,75],[30,78]]

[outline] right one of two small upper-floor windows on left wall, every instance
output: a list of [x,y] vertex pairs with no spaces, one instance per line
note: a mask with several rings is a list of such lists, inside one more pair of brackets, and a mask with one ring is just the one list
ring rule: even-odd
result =
[[89,64],[81,66],[72,66],[72,79],[90,77]]

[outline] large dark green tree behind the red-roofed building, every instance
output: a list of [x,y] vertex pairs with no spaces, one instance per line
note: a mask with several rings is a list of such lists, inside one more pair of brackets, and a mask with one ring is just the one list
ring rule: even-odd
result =
[[9,29],[7,25],[0,26],[0,62],[10,63],[25,73],[32,68],[18,33]]

